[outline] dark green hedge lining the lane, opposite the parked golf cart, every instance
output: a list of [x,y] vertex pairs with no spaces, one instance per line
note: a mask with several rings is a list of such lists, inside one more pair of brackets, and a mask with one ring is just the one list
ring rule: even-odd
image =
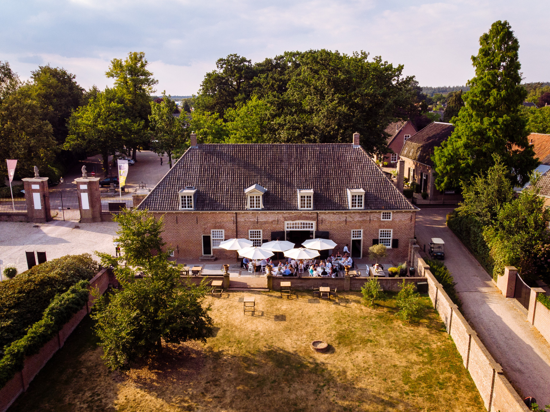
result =
[[447,226],[470,249],[487,273],[492,274],[494,262],[489,255],[489,246],[483,239],[485,227],[475,217],[456,215],[447,219]]

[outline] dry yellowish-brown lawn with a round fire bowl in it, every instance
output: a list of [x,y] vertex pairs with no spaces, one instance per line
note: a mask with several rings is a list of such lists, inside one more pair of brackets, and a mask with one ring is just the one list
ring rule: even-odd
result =
[[[243,314],[244,296],[256,312]],[[414,325],[395,300],[370,309],[358,293],[232,292],[208,298],[216,336],[109,372],[87,317],[15,411],[485,411],[443,323],[423,298]],[[330,344],[326,354],[312,340]]]

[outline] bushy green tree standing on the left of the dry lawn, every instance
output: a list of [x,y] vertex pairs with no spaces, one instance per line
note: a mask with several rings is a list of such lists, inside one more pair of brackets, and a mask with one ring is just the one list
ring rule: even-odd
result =
[[[122,290],[96,300],[92,317],[107,366],[119,369],[128,362],[162,352],[162,343],[199,339],[212,332],[210,307],[204,307],[205,280],[182,284],[179,270],[167,261],[160,234],[162,219],[145,211],[125,211],[114,217],[122,256],[100,254],[102,264],[113,265]],[[143,272],[136,279],[136,272]]]

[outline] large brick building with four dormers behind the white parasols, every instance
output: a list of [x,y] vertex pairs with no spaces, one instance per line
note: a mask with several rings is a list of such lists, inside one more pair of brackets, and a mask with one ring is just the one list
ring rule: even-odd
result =
[[417,208],[358,133],[349,144],[200,145],[192,133],[190,144],[138,207],[163,217],[175,259],[234,259],[235,251],[219,248],[224,239],[299,247],[315,237],[334,240],[334,252],[349,244],[356,258],[381,243],[390,260],[406,260]]

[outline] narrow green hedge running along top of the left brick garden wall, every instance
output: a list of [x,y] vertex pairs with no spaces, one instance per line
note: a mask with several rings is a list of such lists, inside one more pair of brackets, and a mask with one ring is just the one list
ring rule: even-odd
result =
[[87,285],[88,281],[80,281],[67,292],[56,295],[46,307],[41,320],[34,323],[23,338],[5,348],[4,356],[0,359],[0,387],[23,369],[25,356],[38,353],[76,312],[83,309],[89,299]]

